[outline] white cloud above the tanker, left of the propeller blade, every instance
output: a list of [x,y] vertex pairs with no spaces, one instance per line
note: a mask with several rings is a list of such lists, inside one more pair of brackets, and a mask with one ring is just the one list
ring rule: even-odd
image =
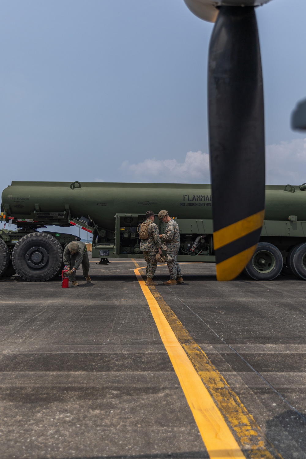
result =
[[135,179],[168,183],[209,183],[209,157],[201,151],[188,151],[184,162],[176,159],[145,159],[137,164],[122,162],[121,170]]

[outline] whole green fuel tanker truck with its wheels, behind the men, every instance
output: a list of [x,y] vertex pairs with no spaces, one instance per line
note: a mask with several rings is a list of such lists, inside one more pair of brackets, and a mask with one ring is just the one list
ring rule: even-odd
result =
[[[43,230],[76,225],[92,234],[92,257],[143,258],[139,224],[147,210],[166,209],[178,222],[178,261],[213,263],[211,187],[195,184],[12,182],[2,193],[0,275],[28,281],[61,272],[63,248],[75,235]],[[157,219],[156,219],[157,220]],[[162,233],[165,224],[156,221]],[[10,231],[15,224],[17,231]],[[306,184],[267,185],[261,240],[245,273],[272,280],[278,274],[306,280]]]

